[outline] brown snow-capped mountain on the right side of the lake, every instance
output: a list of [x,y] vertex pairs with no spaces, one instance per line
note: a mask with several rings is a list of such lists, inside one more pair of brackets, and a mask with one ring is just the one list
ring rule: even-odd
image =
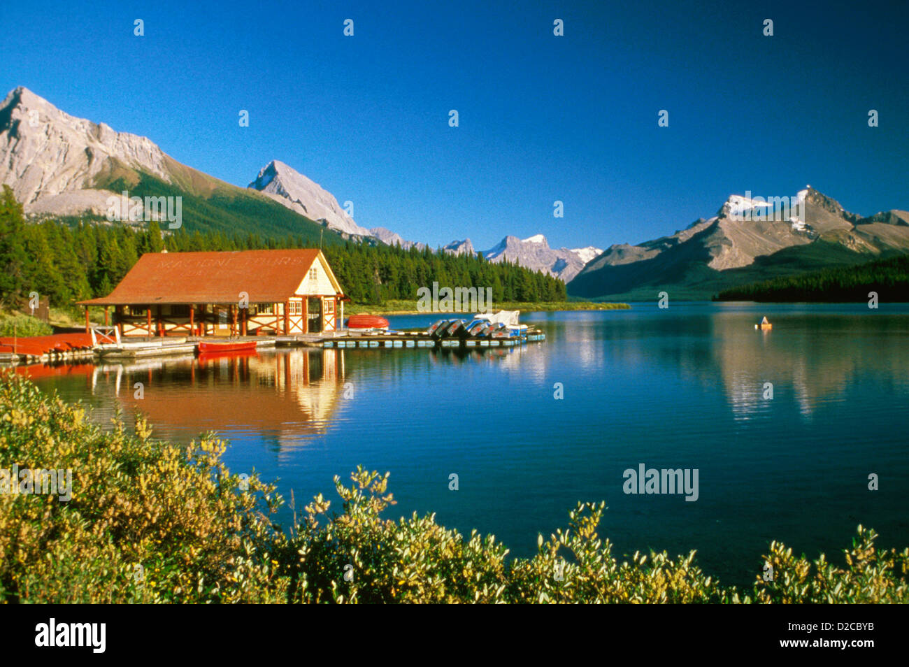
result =
[[[909,214],[863,218],[810,185],[791,210],[741,195],[683,230],[643,244],[617,244],[574,276],[568,293],[584,298],[704,299],[735,285],[909,251]],[[770,218],[770,219],[764,219]]]

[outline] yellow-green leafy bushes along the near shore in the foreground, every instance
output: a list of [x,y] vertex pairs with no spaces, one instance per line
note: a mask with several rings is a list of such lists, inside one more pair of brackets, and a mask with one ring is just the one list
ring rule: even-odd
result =
[[[0,494],[4,602],[907,602],[909,550],[879,550],[859,526],[844,568],[772,543],[774,581],[721,586],[694,552],[620,560],[597,526],[603,503],[539,536],[533,558],[508,558],[492,536],[464,537],[394,503],[388,473],[335,478],[340,507],[319,496],[289,533],[282,502],[241,479],[214,437],[156,441],[141,418],[104,431],[79,405],[0,374],[0,467],[73,472],[72,500]],[[345,577],[345,573],[347,576]]]

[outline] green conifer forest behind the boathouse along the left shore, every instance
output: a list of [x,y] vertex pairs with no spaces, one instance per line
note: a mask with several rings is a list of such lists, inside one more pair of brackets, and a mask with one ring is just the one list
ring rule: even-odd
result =
[[[248,232],[162,234],[155,222],[146,229],[55,220],[30,224],[5,186],[0,197],[0,307],[9,308],[31,292],[49,296],[52,305],[64,308],[78,299],[108,294],[142,254],[164,248],[185,252],[317,246],[318,241],[290,235],[276,240]],[[565,298],[561,281],[514,264],[350,241],[326,244],[324,251],[355,303],[415,299],[417,288],[431,287],[434,281],[440,286],[492,287],[494,301]]]

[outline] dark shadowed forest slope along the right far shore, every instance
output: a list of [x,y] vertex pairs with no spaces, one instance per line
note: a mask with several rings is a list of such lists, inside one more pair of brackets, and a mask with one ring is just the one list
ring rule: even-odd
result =
[[789,275],[724,290],[718,301],[867,302],[876,292],[881,301],[909,301],[909,255]]

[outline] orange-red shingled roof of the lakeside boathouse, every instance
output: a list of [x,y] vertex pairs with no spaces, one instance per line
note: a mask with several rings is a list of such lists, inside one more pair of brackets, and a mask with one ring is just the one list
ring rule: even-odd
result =
[[[241,292],[248,294],[250,304],[282,302],[295,294],[320,254],[314,248],[146,253],[113,292],[78,303],[235,304]],[[340,293],[331,269],[328,274]]]

